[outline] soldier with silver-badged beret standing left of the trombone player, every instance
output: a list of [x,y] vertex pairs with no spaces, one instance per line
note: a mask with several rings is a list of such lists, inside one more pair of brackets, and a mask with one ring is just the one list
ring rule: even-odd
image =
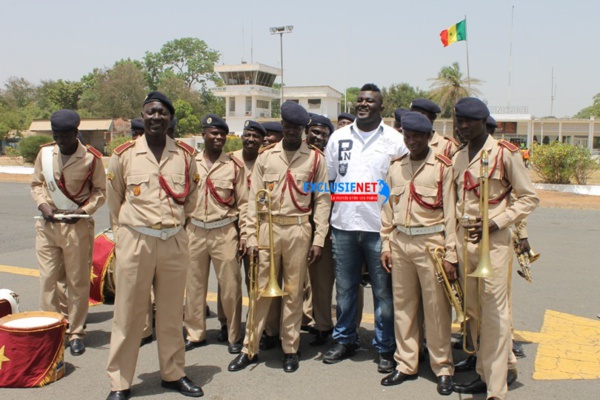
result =
[[244,163],[223,153],[229,133],[225,121],[208,114],[202,120],[202,128],[205,149],[196,155],[200,174],[198,203],[187,225],[191,262],[186,284],[185,349],[206,344],[206,295],[212,261],[226,318],[228,350],[237,354],[242,349],[242,275],[238,249],[244,249],[246,242],[247,181]]

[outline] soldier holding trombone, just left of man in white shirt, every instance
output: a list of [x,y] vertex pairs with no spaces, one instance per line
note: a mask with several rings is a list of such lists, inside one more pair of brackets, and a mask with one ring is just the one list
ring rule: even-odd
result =
[[[325,158],[319,150],[309,147],[302,141],[302,131],[310,119],[306,110],[294,102],[281,106],[283,119],[282,142],[264,151],[254,166],[250,198],[260,189],[271,194],[273,211],[273,237],[275,271],[281,273],[283,289],[288,294],[283,297],[282,348],[285,353],[283,369],[294,372],[298,369],[298,348],[300,346],[300,325],[302,323],[302,295],[308,265],[320,258],[321,249],[328,229],[331,207],[329,193],[304,191],[305,182],[327,182]],[[268,223],[261,222],[261,237],[256,237],[254,221],[258,218],[254,202],[248,204],[248,248],[256,251],[260,243],[268,243]],[[315,223],[314,235],[309,222],[312,215]],[[312,245],[311,245],[312,238]],[[269,277],[269,255],[260,251],[258,270],[259,290],[266,287]],[[256,306],[256,331],[258,337],[265,325],[271,299],[260,297]],[[258,360],[248,356],[246,332],[244,349],[230,364],[229,371],[239,371]],[[254,350],[254,349],[253,349]],[[258,351],[258,349],[256,349]]]

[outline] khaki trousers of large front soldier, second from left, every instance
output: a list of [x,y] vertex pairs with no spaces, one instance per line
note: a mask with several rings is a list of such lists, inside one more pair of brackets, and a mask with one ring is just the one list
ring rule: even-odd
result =
[[176,381],[185,376],[181,327],[189,264],[187,233],[182,229],[161,240],[122,225],[115,239],[115,311],[107,367],[111,388],[131,387],[152,285],[160,376]]

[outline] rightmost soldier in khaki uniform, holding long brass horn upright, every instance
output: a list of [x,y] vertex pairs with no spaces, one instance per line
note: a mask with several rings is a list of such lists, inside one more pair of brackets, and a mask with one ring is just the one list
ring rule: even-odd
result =
[[[471,383],[454,385],[458,393],[486,393],[488,399],[504,400],[507,386],[517,379],[516,359],[511,353],[508,306],[508,271],[513,259],[509,228],[529,215],[539,199],[520,159],[518,148],[504,140],[496,141],[485,129],[489,116],[486,105],[475,98],[460,99],[455,106],[457,128],[467,146],[454,156],[456,215],[467,217],[469,224],[459,227],[457,253],[461,276],[473,272],[478,262],[478,242],[481,239],[479,209],[479,175],[481,155],[489,155],[489,241],[490,259],[495,277],[467,279],[467,317],[473,343],[479,340],[477,373]],[[511,199],[511,196],[513,197]],[[464,243],[464,229],[469,229],[473,242]],[[468,260],[463,260],[463,246]],[[477,281],[481,285],[478,295]],[[478,298],[479,297],[479,298]],[[477,330],[477,304],[481,304],[481,333]]]

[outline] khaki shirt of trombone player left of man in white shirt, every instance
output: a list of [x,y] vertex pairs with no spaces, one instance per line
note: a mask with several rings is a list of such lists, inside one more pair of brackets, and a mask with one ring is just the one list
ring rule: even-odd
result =
[[[315,165],[316,157],[316,167]],[[263,151],[257,158],[252,173],[252,182],[250,187],[250,199],[254,199],[260,189],[267,189],[271,193],[272,211],[274,216],[297,217],[304,215],[313,216],[315,231],[313,245],[323,247],[327,230],[329,229],[329,211],[331,209],[331,198],[328,192],[314,192],[303,195],[304,182],[309,180],[311,172],[314,170],[312,182],[327,183],[327,165],[325,157],[321,152],[311,149],[306,143],[302,143],[300,148],[294,153],[291,162],[288,163],[282,142]],[[300,192],[295,190],[293,185],[287,183],[287,172],[293,177],[293,182]],[[285,190],[284,190],[285,188]],[[294,204],[303,209],[312,211],[301,211]],[[248,224],[246,231],[248,233],[248,246],[256,246],[256,205],[254,201],[248,203]]]

